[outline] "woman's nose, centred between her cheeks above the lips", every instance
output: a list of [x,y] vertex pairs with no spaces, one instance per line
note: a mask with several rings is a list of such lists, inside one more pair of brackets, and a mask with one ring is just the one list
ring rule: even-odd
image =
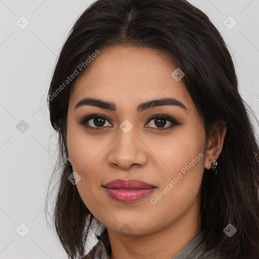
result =
[[132,129],[128,133],[119,131],[118,136],[109,145],[108,163],[124,170],[147,163],[146,145]]

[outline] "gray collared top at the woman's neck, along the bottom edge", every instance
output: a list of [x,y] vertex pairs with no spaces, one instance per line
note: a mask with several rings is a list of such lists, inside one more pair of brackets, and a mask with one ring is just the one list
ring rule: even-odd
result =
[[[206,242],[204,240],[204,230],[200,231],[181,251],[179,251],[172,259],[222,259],[223,257],[217,250],[206,252]],[[81,259],[110,259],[104,243],[99,240],[92,248],[91,252]]]

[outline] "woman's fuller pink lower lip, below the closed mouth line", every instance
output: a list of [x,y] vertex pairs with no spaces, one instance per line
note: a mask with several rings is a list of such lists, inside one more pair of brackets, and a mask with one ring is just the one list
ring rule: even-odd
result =
[[149,189],[112,189],[106,188],[107,193],[115,200],[122,202],[134,202],[150,195],[155,188]]

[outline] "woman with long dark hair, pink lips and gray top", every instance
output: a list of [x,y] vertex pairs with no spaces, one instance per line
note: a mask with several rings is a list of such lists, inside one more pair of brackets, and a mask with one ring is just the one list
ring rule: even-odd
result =
[[255,131],[199,9],[96,1],[62,48],[48,101],[69,258],[259,258]]

